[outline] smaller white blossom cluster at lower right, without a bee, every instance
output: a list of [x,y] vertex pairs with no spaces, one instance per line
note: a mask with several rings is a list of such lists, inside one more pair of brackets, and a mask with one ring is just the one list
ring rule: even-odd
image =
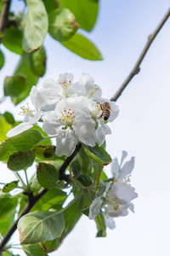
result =
[[96,197],[89,207],[88,218],[94,219],[101,211],[105,217],[105,224],[111,230],[115,228],[113,218],[126,216],[127,209],[133,211],[133,203],[131,202],[138,194],[129,184],[129,176],[133,171],[134,157],[127,161],[123,166],[123,161],[127,157],[127,152],[122,152],[122,160],[119,165],[115,158],[111,163],[111,172],[113,182],[107,183],[103,195]]

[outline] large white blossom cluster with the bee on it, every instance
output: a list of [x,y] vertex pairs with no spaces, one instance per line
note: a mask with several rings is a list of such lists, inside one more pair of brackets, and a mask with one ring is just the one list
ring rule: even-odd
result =
[[34,109],[22,107],[23,123],[8,131],[14,137],[42,122],[42,131],[56,137],[56,154],[70,156],[77,143],[94,147],[105,142],[111,129],[103,118],[104,102],[110,104],[108,122],[116,119],[119,112],[115,102],[101,97],[101,90],[87,73],[74,83],[71,73],[60,74],[57,82],[48,79],[42,89],[33,86],[30,93]]

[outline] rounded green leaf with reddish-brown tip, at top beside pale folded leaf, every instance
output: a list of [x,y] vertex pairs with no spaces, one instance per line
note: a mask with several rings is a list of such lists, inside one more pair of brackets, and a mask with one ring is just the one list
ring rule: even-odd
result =
[[48,16],[48,32],[59,42],[69,40],[80,27],[69,9],[54,9]]

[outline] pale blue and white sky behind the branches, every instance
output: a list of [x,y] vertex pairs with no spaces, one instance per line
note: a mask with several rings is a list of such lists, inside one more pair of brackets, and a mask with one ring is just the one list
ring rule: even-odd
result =
[[[73,73],[76,81],[82,73],[89,73],[100,85],[103,96],[111,98],[131,72],[148,36],[156,29],[168,8],[167,0],[101,0],[93,32],[82,33],[98,46],[104,61],[82,60],[48,36],[45,40],[47,72],[38,86],[45,79],[58,79],[59,73]],[[170,253],[169,27],[170,18],[151,44],[139,74],[116,102],[120,113],[111,123],[112,134],[106,140],[112,158],[120,160],[122,150],[127,151],[128,160],[135,156],[131,177],[131,184],[139,194],[133,201],[135,212],[116,218],[116,229],[107,230],[106,238],[95,238],[94,221],[83,216],[59,250],[50,255],[103,256],[110,253],[116,256],[160,256]],[[6,53],[7,67],[0,73],[0,96],[3,95],[3,79],[13,73],[15,61],[19,59],[2,49]],[[13,104],[7,99],[0,108],[2,112],[10,110]],[[16,117],[19,108],[15,110]],[[8,182],[11,172],[4,166],[1,172],[2,182]],[[105,172],[111,175],[110,166]]]

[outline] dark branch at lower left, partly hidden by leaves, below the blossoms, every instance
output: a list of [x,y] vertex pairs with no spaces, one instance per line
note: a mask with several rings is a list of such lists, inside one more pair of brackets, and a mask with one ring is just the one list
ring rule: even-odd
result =
[[[74,152],[71,154],[71,156],[67,157],[67,159],[65,160],[65,162],[63,163],[62,166],[60,166],[59,168],[59,179],[66,179],[65,178],[65,169],[67,166],[70,165],[71,160],[73,160],[73,158],[76,156],[76,154],[78,153],[78,151],[80,150],[80,148],[82,148],[82,144],[79,143],[77,145],[77,147],[75,148]],[[3,240],[0,243],[0,255],[3,252],[3,248],[6,245],[6,243],[8,242],[8,240],[10,239],[10,237],[14,234],[14,231],[17,229],[17,224],[20,220],[20,218],[24,215],[26,215],[26,213],[30,212],[31,208],[37,203],[37,201],[39,201],[42,198],[42,195],[44,195],[46,192],[48,192],[48,189],[40,189],[37,192],[37,195],[32,195],[32,192],[28,195],[28,202],[26,204],[26,207],[23,209],[22,212],[20,212],[20,216],[14,221],[14,224],[11,226],[11,228],[8,230],[7,234],[3,237]]]

